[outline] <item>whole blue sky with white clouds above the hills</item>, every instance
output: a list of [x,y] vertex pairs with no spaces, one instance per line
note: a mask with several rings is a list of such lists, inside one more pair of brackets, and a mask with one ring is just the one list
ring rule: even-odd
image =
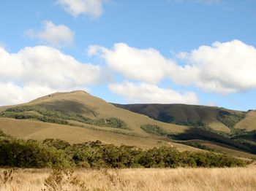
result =
[[256,0],[3,0],[0,106],[85,90],[256,109],[255,20]]

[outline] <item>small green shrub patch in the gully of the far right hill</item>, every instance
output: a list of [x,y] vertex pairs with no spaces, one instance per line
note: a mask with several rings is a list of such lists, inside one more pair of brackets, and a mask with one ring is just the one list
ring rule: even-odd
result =
[[233,129],[233,127],[239,121],[243,120],[246,115],[246,112],[242,112],[241,114],[230,113],[225,110],[220,110],[217,120],[222,122],[228,128]]

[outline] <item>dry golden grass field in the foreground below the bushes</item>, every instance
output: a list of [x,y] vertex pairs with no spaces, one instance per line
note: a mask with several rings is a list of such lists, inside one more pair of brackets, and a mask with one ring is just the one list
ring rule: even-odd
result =
[[[0,190],[256,190],[256,168],[76,170],[18,169]],[[45,181],[46,180],[46,181]],[[5,184],[4,184],[5,182]]]

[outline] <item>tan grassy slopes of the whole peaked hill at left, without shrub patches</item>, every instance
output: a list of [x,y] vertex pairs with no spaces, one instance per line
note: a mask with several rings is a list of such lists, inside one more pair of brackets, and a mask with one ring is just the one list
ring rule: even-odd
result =
[[[6,109],[11,112],[4,112]],[[24,109],[28,111],[23,111]],[[38,117],[42,117],[43,115],[40,113],[42,109],[46,109],[45,113],[49,114],[48,117],[57,114],[57,117],[52,117],[55,121],[48,123],[47,121],[38,120],[41,119]],[[42,98],[37,98],[27,104],[0,107],[0,111],[1,114],[5,114],[0,117],[0,130],[4,130],[4,133],[12,136],[26,139],[42,140],[59,138],[72,143],[96,141],[99,139],[105,143],[133,144],[138,147],[157,147],[160,142],[162,144],[168,144],[170,139],[148,134],[140,128],[141,125],[159,125],[170,133],[182,133],[189,128],[182,125],[159,122],[145,115],[120,109],[84,91],[53,93]],[[6,116],[7,114],[15,115],[8,117]],[[78,114],[78,116],[82,116],[84,119],[99,122],[99,125],[97,122],[94,124],[91,121],[84,123],[75,120],[67,120],[68,124],[66,125],[54,124],[59,123],[59,114],[66,114],[64,117],[67,117],[67,114],[72,116]],[[104,125],[105,120],[113,117],[115,117],[114,119],[124,121],[127,129],[111,128]],[[100,123],[102,120],[103,125]],[[180,149],[194,149],[182,144],[176,145]]]

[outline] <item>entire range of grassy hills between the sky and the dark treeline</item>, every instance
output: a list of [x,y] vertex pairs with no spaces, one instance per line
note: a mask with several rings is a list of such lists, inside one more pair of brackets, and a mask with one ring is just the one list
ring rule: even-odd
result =
[[[84,91],[53,93],[0,107],[0,130],[22,139],[166,145],[256,157],[255,112],[182,104],[110,104]],[[237,127],[237,128],[236,128]],[[246,130],[244,130],[246,128]]]

